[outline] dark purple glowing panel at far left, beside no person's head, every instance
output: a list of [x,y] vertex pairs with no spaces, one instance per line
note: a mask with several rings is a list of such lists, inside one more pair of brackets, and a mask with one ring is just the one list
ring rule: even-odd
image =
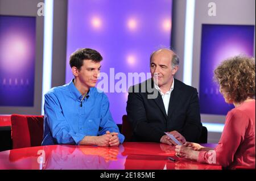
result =
[[0,15],[0,106],[34,106],[36,19]]

